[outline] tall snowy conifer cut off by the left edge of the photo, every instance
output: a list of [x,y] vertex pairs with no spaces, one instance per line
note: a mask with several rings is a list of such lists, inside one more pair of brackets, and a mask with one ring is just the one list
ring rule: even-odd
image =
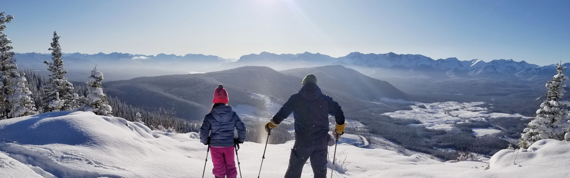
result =
[[10,23],[14,19],[13,15],[6,15],[0,13],[0,119],[5,119],[10,112],[10,101],[8,97],[14,92],[14,82],[10,80],[10,77],[15,75],[14,69],[18,66],[15,64],[14,52],[10,51],[13,49],[10,46],[9,38],[7,35],[2,33],[6,29],[4,23]]

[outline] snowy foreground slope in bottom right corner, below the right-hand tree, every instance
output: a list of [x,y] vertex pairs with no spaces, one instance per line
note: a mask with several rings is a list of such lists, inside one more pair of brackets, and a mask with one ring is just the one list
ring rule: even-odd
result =
[[[485,164],[470,161],[459,163],[408,165],[363,173],[357,177],[568,177],[570,143],[546,139],[518,151],[503,149]],[[471,167],[470,167],[471,166]]]

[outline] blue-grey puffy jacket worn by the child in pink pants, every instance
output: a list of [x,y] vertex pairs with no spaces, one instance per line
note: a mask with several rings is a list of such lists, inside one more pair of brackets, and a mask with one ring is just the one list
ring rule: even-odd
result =
[[200,127],[200,141],[208,143],[212,147],[233,147],[234,128],[238,130],[238,140],[246,139],[246,127],[238,114],[231,106],[216,106],[204,117],[202,127]]

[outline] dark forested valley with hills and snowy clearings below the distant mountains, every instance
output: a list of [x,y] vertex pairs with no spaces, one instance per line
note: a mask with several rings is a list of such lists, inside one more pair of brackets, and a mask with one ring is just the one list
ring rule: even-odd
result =
[[[499,102],[511,99],[534,100],[539,96],[538,92],[532,92],[534,89],[517,89],[525,84],[516,84],[515,81],[505,83],[495,79],[477,79],[482,85],[477,89],[480,90],[478,92],[489,93],[491,88],[487,89],[486,86],[497,83],[511,90],[506,92],[512,93],[446,94],[443,93],[445,90],[440,90],[431,95],[417,95],[418,92],[406,93],[390,82],[371,78],[340,65],[285,71],[246,66],[200,74],[111,81],[104,82],[103,86],[109,96],[119,98],[127,104],[149,111],[157,110],[157,106],[160,106],[172,110],[178,118],[198,124],[209,110],[211,86],[222,83],[229,91],[230,104],[246,123],[251,135],[248,140],[262,143],[263,124],[271,119],[289,95],[299,90],[299,81],[308,73],[319,76],[319,86],[323,93],[339,102],[350,120],[346,132],[353,137],[341,142],[366,145],[363,148],[390,149],[404,155],[434,155],[441,160],[453,160],[459,152],[490,156],[506,148],[507,144],[514,144],[518,139],[516,135],[522,131],[518,124],[528,122],[530,117],[527,113],[498,110],[503,106]],[[433,79],[425,81],[430,80]],[[397,83],[404,84],[406,80],[398,80]],[[429,82],[418,84],[435,86]],[[415,91],[422,90],[416,83],[409,83],[406,88],[414,86]],[[454,90],[469,93],[469,89],[473,89],[473,86],[458,84]],[[528,92],[535,95],[524,95]],[[520,95],[524,97],[520,98]],[[519,103],[536,107],[534,102]],[[504,119],[519,121],[505,125],[501,121]],[[293,139],[292,122],[290,116],[276,128],[275,134],[279,137],[272,137],[270,143],[280,144]],[[420,135],[409,134],[410,132]],[[450,137],[455,139],[450,141]]]

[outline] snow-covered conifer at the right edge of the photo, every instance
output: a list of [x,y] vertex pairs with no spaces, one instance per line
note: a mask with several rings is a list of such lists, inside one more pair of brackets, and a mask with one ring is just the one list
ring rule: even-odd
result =
[[540,104],[540,109],[536,110],[536,118],[524,128],[519,141],[519,146],[522,148],[528,148],[541,139],[570,140],[567,110],[570,103],[561,100],[566,92],[564,81],[568,76],[564,74],[564,67],[561,64],[557,65],[556,72],[552,80],[546,83],[548,89],[546,100]]

